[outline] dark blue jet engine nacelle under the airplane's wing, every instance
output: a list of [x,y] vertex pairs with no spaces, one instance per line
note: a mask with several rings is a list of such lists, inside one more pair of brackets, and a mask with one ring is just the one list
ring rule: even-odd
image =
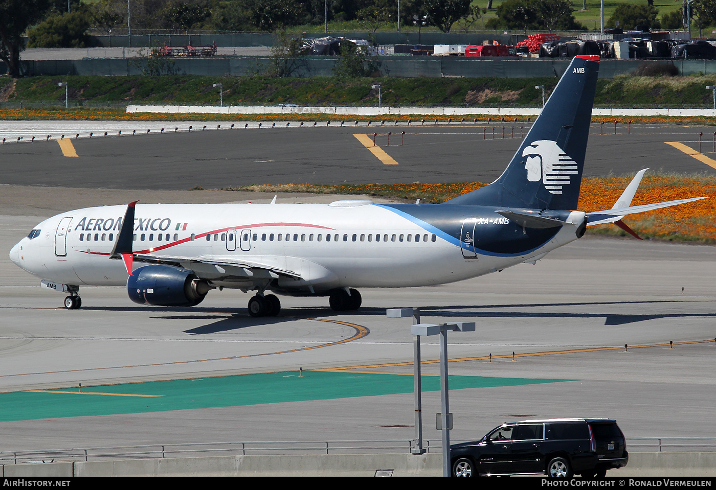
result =
[[214,289],[188,269],[147,265],[127,280],[130,300],[140,305],[195,306]]

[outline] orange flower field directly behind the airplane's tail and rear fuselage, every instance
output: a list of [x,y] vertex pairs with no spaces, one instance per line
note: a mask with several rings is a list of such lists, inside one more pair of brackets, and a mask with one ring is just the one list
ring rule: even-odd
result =
[[[582,180],[579,210],[584,212],[608,210],[614,205],[632,177],[589,177]],[[456,184],[364,184],[364,185],[249,185],[226,190],[258,192],[316,192],[361,194],[394,197],[406,201],[420,198],[422,202],[443,202],[452,197],[479,189],[482,182]],[[666,209],[629,215],[624,222],[642,238],[716,243],[716,179],[713,177],[685,177],[657,175],[644,177],[634,196],[633,206],[652,202],[709,197]],[[616,225],[589,227],[588,233],[626,236]]]

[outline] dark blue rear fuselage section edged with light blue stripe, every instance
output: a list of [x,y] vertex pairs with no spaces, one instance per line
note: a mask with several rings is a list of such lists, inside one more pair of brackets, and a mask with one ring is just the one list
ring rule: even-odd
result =
[[[465,250],[475,251],[481,255],[491,255],[493,257],[517,257],[518,255],[525,255],[532,253],[535,250],[543,247],[554,235],[560,230],[557,228],[550,228],[547,230],[529,230],[530,235],[524,235],[523,230],[518,225],[496,225],[503,227],[498,229],[494,227],[489,230],[494,231],[495,234],[499,232],[518,232],[518,238],[500,239],[495,236],[492,241],[493,250],[485,250],[485,248],[475,247],[466,244],[460,240],[460,232],[462,229],[463,222],[470,218],[480,218],[485,216],[494,216],[495,209],[481,206],[459,206],[459,205],[380,205],[375,206],[382,207],[386,210],[395,212],[395,214],[409,220],[415,225],[420,226],[422,229],[430,233],[435,233],[443,240],[452,243],[458,248],[465,248]],[[417,217],[417,215],[422,215]],[[480,230],[482,234],[480,237],[486,236],[485,230]],[[502,240],[502,241],[500,241]],[[509,250],[509,251],[498,251],[495,249]],[[512,250],[510,250],[512,249]]]

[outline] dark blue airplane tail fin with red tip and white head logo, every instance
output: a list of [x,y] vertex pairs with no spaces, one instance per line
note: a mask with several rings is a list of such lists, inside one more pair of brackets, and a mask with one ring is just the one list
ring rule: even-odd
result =
[[575,57],[498,180],[445,203],[576,209],[598,73],[598,56]]

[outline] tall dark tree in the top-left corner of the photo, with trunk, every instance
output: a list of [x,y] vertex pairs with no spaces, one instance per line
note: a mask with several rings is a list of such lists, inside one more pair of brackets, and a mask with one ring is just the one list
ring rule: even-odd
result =
[[20,76],[20,52],[25,49],[22,35],[48,8],[49,0],[0,0],[0,59],[11,77]]

